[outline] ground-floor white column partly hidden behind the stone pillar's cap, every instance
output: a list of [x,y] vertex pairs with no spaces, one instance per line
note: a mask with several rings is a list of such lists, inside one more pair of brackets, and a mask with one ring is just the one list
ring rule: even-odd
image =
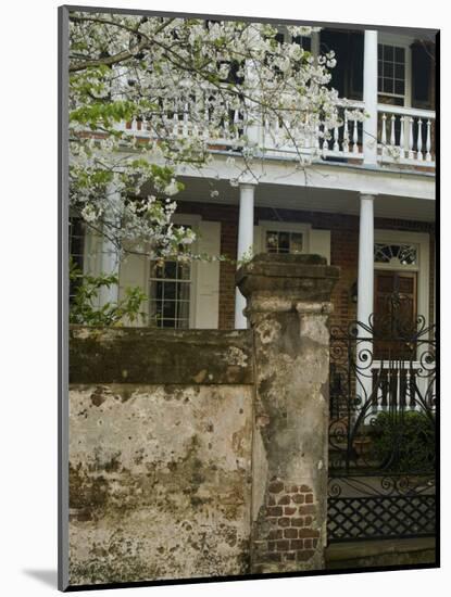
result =
[[[255,185],[242,183],[239,186],[239,220],[238,220],[238,251],[237,261],[250,256],[253,250],[253,204]],[[248,321],[243,315],[246,298],[236,289],[235,293],[235,328],[243,330]]]

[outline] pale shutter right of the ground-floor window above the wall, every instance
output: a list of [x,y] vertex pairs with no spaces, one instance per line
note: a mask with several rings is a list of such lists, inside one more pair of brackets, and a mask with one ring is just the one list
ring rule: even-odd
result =
[[[220,255],[221,224],[200,221],[198,225],[198,253]],[[193,326],[198,329],[217,329],[220,318],[220,263],[198,262],[193,285]]]

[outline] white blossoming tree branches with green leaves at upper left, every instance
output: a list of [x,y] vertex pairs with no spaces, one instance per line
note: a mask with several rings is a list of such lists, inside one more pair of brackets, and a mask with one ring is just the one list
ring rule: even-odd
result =
[[[72,12],[73,213],[120,251],[192,257],[195,233],[173,224],[177,166],[209,164],[225,122],[237,139],[236,169],[251,175],[264,154],[252,127],[277,120],[303,166],[304,140],[341,124],[328,87],[333,52],[314,59],[296,39],[311,30],[288,27],[281,42],[267,24]],[[174,135],[175,115],[190,123],[189,136]],[[121,126],[131,120],[146,123],[145,139]]]

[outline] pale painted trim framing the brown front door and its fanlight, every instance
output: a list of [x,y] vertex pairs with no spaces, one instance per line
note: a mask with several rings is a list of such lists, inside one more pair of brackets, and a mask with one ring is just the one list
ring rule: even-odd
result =
[[[425,318],[426,326],[429,326],[429,242],[430,238],[427,232],[410,232],[405,230],[380,230],[374,231],[374,242],[389,243],[412,243],[418,246],[418,266],[412,267],[393,267],[391,264],[374,264],[374,269],[396,269],[398,271],[418,271],[416,301],[417,314]],[[388,267],[387,267],[388,266]]]

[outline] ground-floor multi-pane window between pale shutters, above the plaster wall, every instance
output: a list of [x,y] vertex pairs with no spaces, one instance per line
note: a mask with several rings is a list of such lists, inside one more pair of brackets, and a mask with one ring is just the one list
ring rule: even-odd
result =
[[188,328],[191,265],[151,262],[149,284],[150,322],[158,328]]

